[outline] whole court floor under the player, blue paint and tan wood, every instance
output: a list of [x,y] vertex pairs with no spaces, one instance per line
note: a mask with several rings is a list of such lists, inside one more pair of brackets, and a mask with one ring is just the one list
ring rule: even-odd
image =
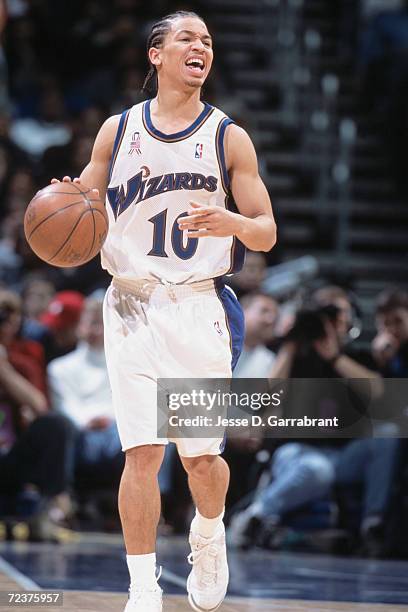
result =
[[[164,612],[190,612],[185,537],[158,540]],[[251,550],[229,551],[230,596],[220,612],[408,612],[408,562]],[[123,612],[128,585],[123,541],[78,534],[55,544],[0,542],[0,591],[64,592],[64,606],[37,612]],[[2,606],[13,612],[18,606]]]

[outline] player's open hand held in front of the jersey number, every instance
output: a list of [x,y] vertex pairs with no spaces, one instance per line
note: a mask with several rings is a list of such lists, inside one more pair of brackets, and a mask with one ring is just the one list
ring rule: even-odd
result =
[[238,232],[240,215],[221,206],[202,206],[196,202],[190,202],[190,206],[188,216],[178,219],[179,229],[187,230],[189,238],[222,238]]

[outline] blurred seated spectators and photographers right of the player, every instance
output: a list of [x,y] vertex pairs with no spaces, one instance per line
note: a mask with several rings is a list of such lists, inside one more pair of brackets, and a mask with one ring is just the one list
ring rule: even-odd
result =
[[[258,258],[249,253],[247,265]],[[245,269],[243,277],[247,284]],[[239,289],[240,275],[235,282]],[[408,374],[408,293],[390,287],[378,295],[376,334],[367,347],[357,341],[362,329],[356,296],[339,286],[318,284],[300,302],[294,296],[283,303],[252,290],[241,303],[246,340],[235,375],[308,379],[286,398],[288,416],[337,415],[344,424],[350,403],[363,415],[364,406],[379,402],[383,422],[373,427],[362,419],[346,437],[239,440],[239,450],[248,451],[249,479],[243,481],[241,469],[232,480],[231,544],[280,548],[296,527],[306,533],[342,527],[347,537],[334,537],[336,550],[395,554],[404,525],[407,445],[389,428],[392,400],[385,385]],[[317,391],[310,379],[319,379]],[[339,392],[342,379],[346,397]],[[327,533],[324,539],[327,545]]]

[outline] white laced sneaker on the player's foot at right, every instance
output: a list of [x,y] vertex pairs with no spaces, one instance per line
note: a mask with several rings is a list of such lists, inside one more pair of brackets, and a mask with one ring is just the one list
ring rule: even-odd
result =
[[224,525],[213,538],[190,531],[189,541],[187,558],[193,569],[187,578],[188,601],[196,612],[214,612],[224,601],[229,580]]

